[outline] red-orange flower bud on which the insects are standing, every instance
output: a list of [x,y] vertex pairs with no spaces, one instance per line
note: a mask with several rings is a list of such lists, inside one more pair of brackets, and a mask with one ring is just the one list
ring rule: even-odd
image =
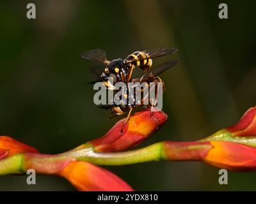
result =
[[[118,121],[102,138],[92,140],[90,143],[96,152],[117,152],[130,149],[147,140],[157,127],[161,127],[167,120],[164,112],[152,112],[145,109],[137,112],[124,126],[124,119]],[[157,121],[156,121],[157,120]],[[121,129],[123,128],[123,133]]]

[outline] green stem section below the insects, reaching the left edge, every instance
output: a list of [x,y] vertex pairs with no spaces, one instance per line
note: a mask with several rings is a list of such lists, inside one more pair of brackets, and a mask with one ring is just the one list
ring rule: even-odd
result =
[[92,148],[87,148],[57,155],[16,154],[0,160],[0,175],[25,173],[29,168],[33,168],[37,173],[55,175],[60,173],[67,163],[76,160],[109,166],[157,161],[164,159],[162,149],[163,143],[160,142],[127,152],[100,153],[93,152]]

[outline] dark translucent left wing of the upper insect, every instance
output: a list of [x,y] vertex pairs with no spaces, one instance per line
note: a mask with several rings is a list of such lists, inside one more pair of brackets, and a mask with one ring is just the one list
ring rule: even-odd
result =
[[104,50],[100,50],[100,49],[88,50],[86,52],[83,52],[81,54],[81,57],[83,59],[87,59],[89,61],[99,62],[99,63],[106,64],[106,65],[109,63],[109,61],[107,60],[107,57],[106,57],[106,52],[104,52]]

